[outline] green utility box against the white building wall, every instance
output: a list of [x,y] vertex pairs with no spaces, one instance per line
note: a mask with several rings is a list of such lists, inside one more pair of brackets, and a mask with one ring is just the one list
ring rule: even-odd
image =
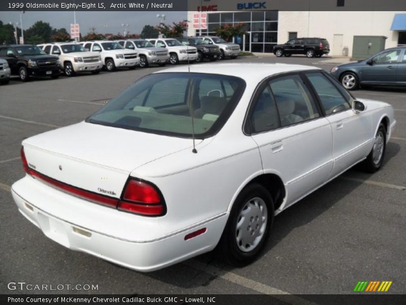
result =
[[364,59],[385,50],[385,36],[354,36],[352,58]]

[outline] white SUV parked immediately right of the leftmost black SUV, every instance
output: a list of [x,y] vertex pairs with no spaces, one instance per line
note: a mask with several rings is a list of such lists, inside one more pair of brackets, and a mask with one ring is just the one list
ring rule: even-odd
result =
[[88,52],[80,44],[56,42],[38,45],[45,53],[56,55],[66,76],[75,76],[80,72],[98,74],[103,68],[101,56],[97,52]]

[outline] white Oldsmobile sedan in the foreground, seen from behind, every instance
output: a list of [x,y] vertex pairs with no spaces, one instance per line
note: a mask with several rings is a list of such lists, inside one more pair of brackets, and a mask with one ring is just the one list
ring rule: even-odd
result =
[[178,67],[25,139],[12,194],[49,238],[131,269],[216,246],[241,266],[281,211],[359,162],[377,171],[395,124],[314,67]]

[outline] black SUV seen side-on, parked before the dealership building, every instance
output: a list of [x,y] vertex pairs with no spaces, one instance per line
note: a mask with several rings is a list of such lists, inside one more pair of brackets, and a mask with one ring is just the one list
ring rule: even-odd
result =
[[276,45],[274,54],[278,57],[304,54],[307,57],[321,57],[330,52],[330,44],[324,38],[295,38],[285,44]]

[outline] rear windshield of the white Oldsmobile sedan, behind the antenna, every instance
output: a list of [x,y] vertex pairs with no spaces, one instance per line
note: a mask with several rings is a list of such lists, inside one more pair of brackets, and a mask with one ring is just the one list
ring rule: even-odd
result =
[[[176,88],[176,90],[174,90]],[[196,138],[216,134],[245,89],[234,76],[205,73],[156,73],[138,80],[86,119],[155,134]]]

